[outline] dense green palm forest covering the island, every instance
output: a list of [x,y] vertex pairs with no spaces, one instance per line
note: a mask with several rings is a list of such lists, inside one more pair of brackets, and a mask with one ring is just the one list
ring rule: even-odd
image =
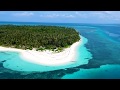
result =
[[80,40],[74,28],[60,26],[0,25],[0,46],[60,51]]

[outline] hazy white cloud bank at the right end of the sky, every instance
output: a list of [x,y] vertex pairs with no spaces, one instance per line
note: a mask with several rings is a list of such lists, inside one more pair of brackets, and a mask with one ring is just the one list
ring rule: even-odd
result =
[[96,20],[120,20],[120,12],[118,11],[76,11],[74,12],[77,18],[96,19]]

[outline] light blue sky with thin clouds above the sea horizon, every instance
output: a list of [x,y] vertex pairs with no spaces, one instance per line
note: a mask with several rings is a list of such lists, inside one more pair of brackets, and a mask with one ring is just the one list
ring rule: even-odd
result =
[[120,23],[120,11],[0,11],[0,21]]

